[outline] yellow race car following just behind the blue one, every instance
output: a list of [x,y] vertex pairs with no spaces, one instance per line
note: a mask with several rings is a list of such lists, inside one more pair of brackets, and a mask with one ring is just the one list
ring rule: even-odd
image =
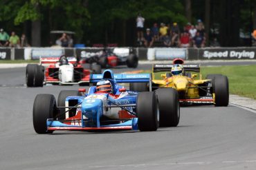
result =
[[[174,59],[170,65],[154,64],[152,68],[152,90],[174,88],[179,93],[180,103],[183,104],[228,105],[227,76],[208,74],[203,79],[199,65],[184,65],[183,63],[182,59]],[[199,78],[196,78],[198,76]],[[140,92],[149,90],[147,83],[131,83],[131,87],[131,89]]]

